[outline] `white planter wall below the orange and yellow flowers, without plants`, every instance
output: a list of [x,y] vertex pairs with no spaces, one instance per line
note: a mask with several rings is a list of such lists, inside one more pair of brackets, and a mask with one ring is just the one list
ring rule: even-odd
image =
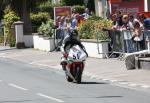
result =
[[89,57],[107,58],[109,41],[81,40]]

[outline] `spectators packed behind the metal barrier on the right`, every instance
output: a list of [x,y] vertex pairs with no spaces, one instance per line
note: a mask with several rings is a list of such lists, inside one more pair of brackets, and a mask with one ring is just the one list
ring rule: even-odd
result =
[[122,14],[117,10],[115,14],[111,15],[113,21],[113,30],[130,30],[132,32],[132,40],[136,45],[137,50],[145,49],[144,33],[143,31],[150,30],[150,18],[143,13]]

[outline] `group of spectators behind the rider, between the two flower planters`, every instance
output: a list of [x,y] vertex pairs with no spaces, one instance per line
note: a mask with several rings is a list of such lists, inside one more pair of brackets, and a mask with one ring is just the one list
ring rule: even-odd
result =
[[77,29],[78,26],[88,19],[90,16],[90,12],[88,8],[85,8],[83,14],[79,14],[72,10],[72,15],[68,16],[57,16],[56,17],[56,26],[57,26],[57,37],[64,38],[70,30]]

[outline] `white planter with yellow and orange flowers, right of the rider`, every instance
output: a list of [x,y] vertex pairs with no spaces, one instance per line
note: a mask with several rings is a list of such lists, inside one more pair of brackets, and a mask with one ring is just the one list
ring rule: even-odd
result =
[[79,35],[89,56],[106,58],[108,53],[109,35],[103,29],[111,28],[111,21],[107,19],[89,19],[79,27]]

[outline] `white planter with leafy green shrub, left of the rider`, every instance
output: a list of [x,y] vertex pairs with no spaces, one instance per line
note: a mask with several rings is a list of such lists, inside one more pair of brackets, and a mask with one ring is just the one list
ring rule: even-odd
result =
[[52,37],[54,34],[54,24],[53,20],[48,20],[46,23],[42,23],[42,25],[38,29],[38,35],[33,36],[34,48],[44,51],[53,51],[55,48],[54,38]]

